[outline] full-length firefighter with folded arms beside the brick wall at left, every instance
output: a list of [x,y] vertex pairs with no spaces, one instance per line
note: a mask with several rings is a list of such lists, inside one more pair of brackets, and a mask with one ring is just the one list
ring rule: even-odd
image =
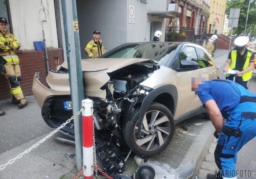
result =
[[20,48],[20,42],[14,38],[7,28],[9,24],[6,18],[0,18],[0,55],[7,61],[4,65],[6,68],[5,78],[8,81],[11,90],[13,103],[17,103],[18,107],[24,107],[28,101],[24,98],[20,83],[22,78],[20,76],[19,58],[14,50]]

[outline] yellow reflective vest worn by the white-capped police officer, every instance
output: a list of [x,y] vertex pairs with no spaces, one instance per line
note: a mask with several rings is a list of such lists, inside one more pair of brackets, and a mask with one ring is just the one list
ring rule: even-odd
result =
[[[252,56],[252,52],[250,52],[250,50],[248,50],[243,70],[248,68],[251,56]],[[231,63],[230,63],[228,70],[233,70],[235,67],[236,67],[236,50],[232,50],[231,51]],[[225,74],[225,76],[229,76],[229,74]],[[244,82],[250,80],[251,78],[252,78],[252,70],[242,74],[242,80]]]

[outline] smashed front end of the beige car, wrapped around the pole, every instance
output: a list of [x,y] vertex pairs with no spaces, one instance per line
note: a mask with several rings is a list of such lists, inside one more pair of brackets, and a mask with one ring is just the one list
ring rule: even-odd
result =
[[[100,65],[109,61],[110,68]],[[122,131],[122,125],[134,111],[136,103],[141,103],[152,88],[141,86],[155,70],[156,62],[148,59],[125,59],[116,64],[116,59],[83,60],[83,83],[86,98],[93,100],[95,129]],[[111,65],[112,64],[112,65]],[[50,71],[46,77],[49,87],[39,81],[39,73],[34,76],[33,93],[42,109],[44,121],[53,128],[72,116],[72,101],[67,64],[64,62],[56,72]],[[68,123],[61,132],[74,138],[74,123]]]

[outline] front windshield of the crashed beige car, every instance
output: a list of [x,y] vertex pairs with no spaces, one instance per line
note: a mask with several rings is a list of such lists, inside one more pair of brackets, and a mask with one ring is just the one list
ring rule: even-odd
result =
[[177,43],[145,42],[118,46],[99,58],[146,58],[159,63],[166,62],[176,50]]

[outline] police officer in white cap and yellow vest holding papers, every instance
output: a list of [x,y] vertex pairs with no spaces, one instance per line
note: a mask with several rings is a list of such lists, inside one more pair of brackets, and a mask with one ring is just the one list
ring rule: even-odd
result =
[[254,68],[254,52],[246,48],[249,38],[240,36],[234,40],[236,48],[232,49],[228,54],[224,73],[228,70],[237,70],[236,74],[225,74],[226,80],[232,80],[235,77],[235,82],[247,88],[247,82],[252,78],[252,69]]

